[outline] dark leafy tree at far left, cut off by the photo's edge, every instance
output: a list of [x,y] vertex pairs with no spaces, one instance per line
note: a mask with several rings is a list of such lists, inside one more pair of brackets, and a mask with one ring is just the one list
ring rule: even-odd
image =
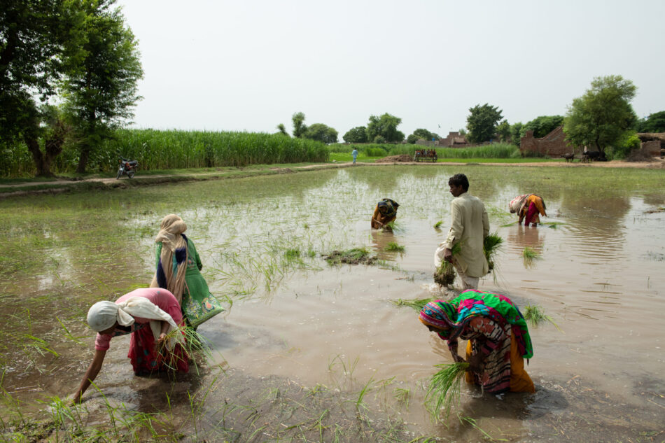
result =
[[[0,8],[0,140],[24,141],[37,176],[52,176],[50,164],[62,143],[45,143],[48,122],[55,122],[45,103],[56,92],[64,61],[76,48],[80,15],[67,0],[6,0]],[[57,120],[57,119],[56,119]]]

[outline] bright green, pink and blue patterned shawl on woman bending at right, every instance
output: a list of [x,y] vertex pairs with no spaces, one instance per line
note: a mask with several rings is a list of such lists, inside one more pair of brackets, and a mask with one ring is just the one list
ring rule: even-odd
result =
[[524,316],[505,295],[466,290],[450,302],[429,302],[419,314],[420,321],[439,329],[439,337],[447,340],[449,344],[461,335],[472,318],[479,316],[488,317],[500,325],[510,324],[521,356],[533,356],[531,337],[528,335]]

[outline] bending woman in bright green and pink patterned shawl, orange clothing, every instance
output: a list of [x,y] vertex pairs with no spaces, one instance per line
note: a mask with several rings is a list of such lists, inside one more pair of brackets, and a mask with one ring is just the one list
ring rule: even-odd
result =
[[[505,295],[466,290],[450,302],[429,302],[419,318],[447,340],[456,362],[468,361],[469,383],[493,394],[535,392],[524,370],[524,358],[533,356],[531,337],[524,317]],[[458,338],[469,341],[466,360],[458,355]]]

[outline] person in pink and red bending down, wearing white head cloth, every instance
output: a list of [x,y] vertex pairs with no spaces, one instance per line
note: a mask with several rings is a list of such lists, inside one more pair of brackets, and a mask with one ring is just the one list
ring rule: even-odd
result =
[[[73,401],[80,402],[85,390],[102,369],[111,339],[132,334],[127,357],[137,375],[165,370],[188,372],[188,356],[183,348],[184,326],[180,304],[168,290],[141,288],[116,302],[97,302],[87,313],[87,324],[97,331],[94,357],[85,372]],[[174,332],[175,331],[175,332]]]

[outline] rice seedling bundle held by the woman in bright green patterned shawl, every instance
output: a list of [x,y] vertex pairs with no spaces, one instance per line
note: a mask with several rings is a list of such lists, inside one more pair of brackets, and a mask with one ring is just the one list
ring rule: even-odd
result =
[[447,420],[450,408],[459,405],[460,391],[464,373],[469,364],[465,362],[436,365],[441,370],[432,376],[425,395],[425,404],[428,406],[433,419],[438,419],[441,409]]

